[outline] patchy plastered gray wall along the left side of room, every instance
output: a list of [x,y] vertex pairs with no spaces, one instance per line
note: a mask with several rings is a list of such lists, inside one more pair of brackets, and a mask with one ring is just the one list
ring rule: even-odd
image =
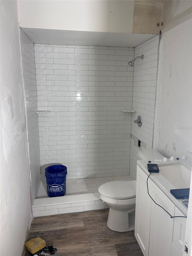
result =
[[[21,255],[32,221],[16,1],[1,1],[1,255]],[[11,245],[10,245],[11,241]]]

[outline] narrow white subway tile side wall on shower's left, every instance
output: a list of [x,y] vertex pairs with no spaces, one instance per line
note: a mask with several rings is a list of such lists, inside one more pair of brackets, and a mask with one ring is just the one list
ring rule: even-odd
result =
[[20,36],[25,85],[29,160],[32,179],[32,199],[34,200],[38,196],[38,190],[41,183],[38,115],[35,113],[37,111],[35,52],[34,44],[22,29],[20,30]]

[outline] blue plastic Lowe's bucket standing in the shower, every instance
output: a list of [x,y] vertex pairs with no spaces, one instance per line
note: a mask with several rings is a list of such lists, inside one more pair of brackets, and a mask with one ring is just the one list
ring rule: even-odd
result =
[[49,197],[62,197],[66,194],[66,176],[67,167],[64,165],[51,165],[45,169]]

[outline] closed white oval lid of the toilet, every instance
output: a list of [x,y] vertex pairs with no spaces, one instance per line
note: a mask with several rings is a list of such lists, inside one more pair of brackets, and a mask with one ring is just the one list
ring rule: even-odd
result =
[[136,180],[117,180],[99,187],[99,193],[110,198],[128,199],[136,197]]

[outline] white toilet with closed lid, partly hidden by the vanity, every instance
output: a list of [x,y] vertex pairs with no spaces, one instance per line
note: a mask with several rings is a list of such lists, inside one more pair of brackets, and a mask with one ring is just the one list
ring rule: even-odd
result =
[[[143,160],[163,159],[154,149],[140,151]],[[114,231],[126,232],[135,229],[136,181],[111,181],[99,187],[100,198],[110,206],[107,226]]]

